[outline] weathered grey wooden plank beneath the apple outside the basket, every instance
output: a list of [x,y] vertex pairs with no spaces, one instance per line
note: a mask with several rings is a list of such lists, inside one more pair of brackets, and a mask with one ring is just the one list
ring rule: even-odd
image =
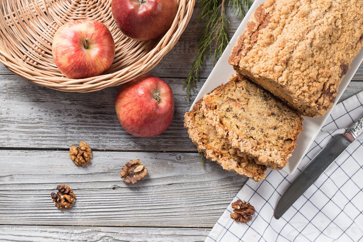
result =
[[[123,130],[115,115],[118,87],[94,93],[65,93],[15,75],[0,75],[0,147],[68,149],[85,140],[94,149],[195,152],[183,126],[183,115],[191,105],[181,89],[183,79],[165,80],[174,92],[173,122],[159,136],[137,138]],[[195,95],[204,81],[200,81]],[[351,82],[340,100],[362,90],[363,82]]]

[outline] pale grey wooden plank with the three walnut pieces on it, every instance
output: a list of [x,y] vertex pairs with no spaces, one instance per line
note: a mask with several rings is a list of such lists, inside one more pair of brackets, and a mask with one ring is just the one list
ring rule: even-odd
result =
[[[198,153],[94,152],[87,167],[67,151],[0,150],[0,157],[4,225],[212,227],[246,181],[214,162],[202,167]],[[125,184],[120,170],[136,158],[148,175]],[[54,206],[59,184],[74,190],[74,208]]]

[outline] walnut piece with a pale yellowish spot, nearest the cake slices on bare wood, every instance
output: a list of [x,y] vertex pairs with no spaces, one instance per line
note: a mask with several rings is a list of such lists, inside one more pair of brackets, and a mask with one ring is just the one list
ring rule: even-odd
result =
[[121,178],[125,183],[136,184],[138,181],[144,180],[144,176],[147,175],[147,169],[141,164],[139,159],[127,162],[121,170]]

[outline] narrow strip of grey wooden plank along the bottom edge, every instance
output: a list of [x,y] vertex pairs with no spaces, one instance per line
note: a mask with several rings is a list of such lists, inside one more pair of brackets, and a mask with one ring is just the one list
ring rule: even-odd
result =
[[211,229],[0,226],[0,242],[202,242]]

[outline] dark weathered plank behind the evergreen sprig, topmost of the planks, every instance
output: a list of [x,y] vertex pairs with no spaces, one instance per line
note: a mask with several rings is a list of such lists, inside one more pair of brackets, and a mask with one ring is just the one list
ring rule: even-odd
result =
[[[198,38],[200,31],[200,23],[196,23],[196,17],[199,11],[199,5],[197,4],[191,21],[189,22],[184,33],[181,35],[178,43],[174,48],[164,56],[151,74],[155,74],[159,77],[179,77],[185,78],[190,70],[190,63],[194,60],[194,53],[196,52],[196,46],[198,44]],[[231,30],[229,30],[229,36],[232,37],[236,31],[238,25],[242,19],[233,16],[233,11],[227,11],[227,16],[231,20]],[[213,61],[206,58],[205,64],[200,71],[200,78],[207,78],[212,70]],[[9,74],[9,71],[0,65],[0,74]],[[363,80],[363,66],[360,66],[354,80]],[[200,85],[200,84],[199,84]]]

